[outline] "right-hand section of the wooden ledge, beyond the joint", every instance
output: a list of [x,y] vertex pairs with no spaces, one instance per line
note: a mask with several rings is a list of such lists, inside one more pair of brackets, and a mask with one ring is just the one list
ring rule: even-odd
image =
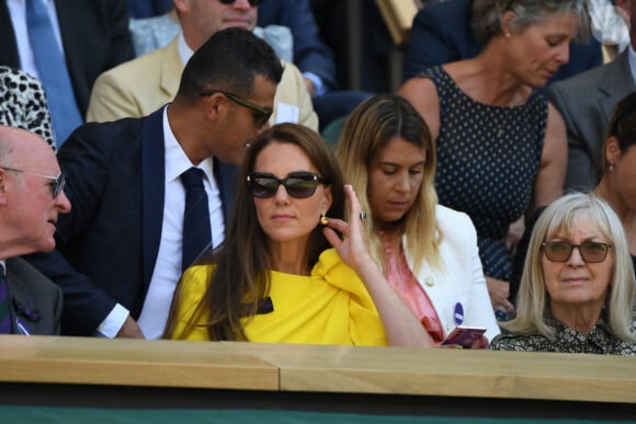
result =
[[281,390],[636,403],[636,357],[241,344]]

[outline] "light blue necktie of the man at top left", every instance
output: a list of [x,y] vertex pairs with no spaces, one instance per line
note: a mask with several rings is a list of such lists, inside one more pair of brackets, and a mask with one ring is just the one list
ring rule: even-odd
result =
[[66,59],[42,0],[26,0],[26,28],[59,147],[83,119],[75,99]]

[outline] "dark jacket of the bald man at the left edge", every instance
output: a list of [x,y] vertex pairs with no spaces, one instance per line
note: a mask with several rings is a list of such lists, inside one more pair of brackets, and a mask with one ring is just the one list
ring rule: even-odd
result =
[[18,323],[29,334],[59,334],[63,296],[58,286],[20,257],[7,260],[7,284],[13,334],[24,334]]

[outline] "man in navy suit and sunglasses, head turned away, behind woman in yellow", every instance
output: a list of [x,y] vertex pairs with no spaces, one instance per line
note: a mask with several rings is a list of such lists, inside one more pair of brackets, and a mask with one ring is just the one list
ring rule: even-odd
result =
[[77,202],[58,250],[30,257],[64,290],[63,334],[159,337],[181,276],[185,188],[198,168],[212,242],[224,238],[237,165],[264,128],[283,68],[251,32],[215,33],[188,61],[172,103],[89,123],[58,152]]

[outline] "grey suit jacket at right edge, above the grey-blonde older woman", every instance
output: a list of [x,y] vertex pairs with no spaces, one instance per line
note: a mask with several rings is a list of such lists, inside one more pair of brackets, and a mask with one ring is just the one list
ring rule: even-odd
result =
[[610,115],[621,99],[636,90],[628,50],[605,66],[559,81],[547,90],[568,130],[566,188],[589,191],[601,179]]

